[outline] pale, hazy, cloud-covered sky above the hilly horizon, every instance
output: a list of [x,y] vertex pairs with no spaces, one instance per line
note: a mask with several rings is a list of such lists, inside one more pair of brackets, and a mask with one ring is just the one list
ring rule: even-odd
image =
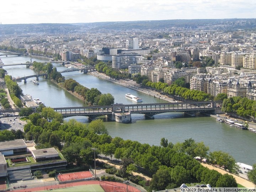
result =
[[1,0],[0,22],[256,18],[255,0]]

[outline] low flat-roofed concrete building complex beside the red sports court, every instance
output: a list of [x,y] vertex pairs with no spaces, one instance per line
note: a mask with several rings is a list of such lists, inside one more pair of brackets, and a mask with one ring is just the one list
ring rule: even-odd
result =
[[9,181],[31,180],[31,170],[66,167],[67,161],[57,149],[36,149],[35,145],[23,139],[0,142],[0,176],[8,176]]

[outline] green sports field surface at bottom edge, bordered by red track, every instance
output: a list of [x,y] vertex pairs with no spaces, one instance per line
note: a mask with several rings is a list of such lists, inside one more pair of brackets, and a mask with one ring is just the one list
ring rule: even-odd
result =
[[[70,183],[66,184],[67,186],[68,185],[71,185]],[[101,188],[100,185],[80,185],[80,186],[75,186],[75,187],[66,187],[66,188],[59,188],[59,189],[56,189],[56,187],[53,189],[54,191],[64,191],[64,192],[84,192],[84,191],[90,191],[90,192],[104,192],[104,190]],[[48,191],[49,191],[49,188],[48,188]],[[47,192],[47,190],[45,191]]]

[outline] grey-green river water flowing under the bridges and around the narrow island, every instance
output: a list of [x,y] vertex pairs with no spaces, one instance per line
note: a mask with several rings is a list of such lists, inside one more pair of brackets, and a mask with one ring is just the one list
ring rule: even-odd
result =
[[[0,54],[4,53],[0,52]],[[1,56],[1,59],[5,64],[11,64],[30,61],[31,57]],[[32,57],[32,62],[35,60],[37,62],[48,62],[48,59]],[[53,63],[53,65],[58,71],[65,68],[61,64]],[[26,68],[25,65],[6,66],[4,69],[7,70],[9,75],[16,78],[35,74],[32,69]],[[115,98],[115,103],[132,104],[133,101],[124,97],[127,93],[141,97],[144,103],[166,102],[79,71],[63,73],[62,75],[65,76],[65,79],[72,78],[85,87],[97,88],[103,94],[111,93]],[[34,85],[32,83],[33,79],[35,78],[27,79],[26,84],[24,84],[24,81],[18,82],[23,94],[30,94],[33,98],[39,98],[44,105],[49,107],[84,106],[81,100],[58,85],[43,78],[39,78],[39,85]],[[108,132],[112,137],[137,140],[140,143],[150,145],[160,145],[160,140],[163,137],[174,144],[192,138],[196,142],[203,141],[205,145],[209,146],[210,151],[222,150],[229,153],[237,162],[249,165],[256,163],[255,133],[229,127],[224,123],[216,122],[215,118],[212,117],[182,118],[183,116],[183,113],[162,113],[155,115],[155,119],[145,120],[141,114],[132,114],[132,123],[129,124],[108,121],[105,117],[101,118],[105,121]],[[72,118],[84,123],[90,122],[87,117]],[[66,118],[66,120],[68,119]]]

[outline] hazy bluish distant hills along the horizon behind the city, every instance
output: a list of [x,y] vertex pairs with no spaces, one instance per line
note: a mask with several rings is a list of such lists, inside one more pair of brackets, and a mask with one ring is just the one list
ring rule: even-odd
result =
[[198,30],[255,30],[256,19],[193,19],[159,21],[120,21],[94,23],[39,23],[0,25],[0,34],[68,34],[109,30],[149,30],[149,29],[198,29]]

